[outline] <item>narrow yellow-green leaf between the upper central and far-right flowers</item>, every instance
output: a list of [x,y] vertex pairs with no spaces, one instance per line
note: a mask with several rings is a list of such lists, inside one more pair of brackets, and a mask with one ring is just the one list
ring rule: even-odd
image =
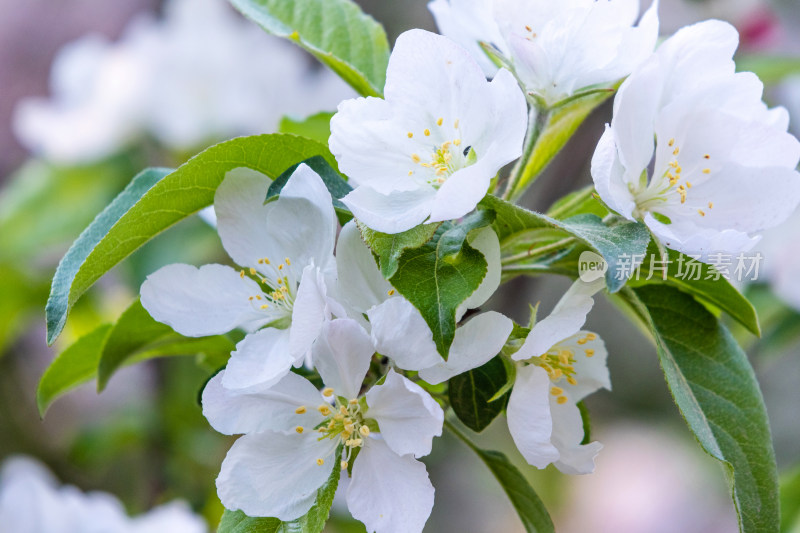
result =
[[541,135],[525,162],[521,178],[514,184],[511,198],[519,198],[522,195],[572,138],[586,117],[613,94],[613,89],[588,91],[584,96],[570,98],[561,105],[556,104],[549,112],[549,116],[543,117],[546,120]]

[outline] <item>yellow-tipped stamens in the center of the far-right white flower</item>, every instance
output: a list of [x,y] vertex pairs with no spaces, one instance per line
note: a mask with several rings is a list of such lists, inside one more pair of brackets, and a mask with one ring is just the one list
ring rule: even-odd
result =
[[[667,164],[667,170],[659,177],[654,177],[650,182],[647,182],[647,171],[642,173],[639,180],[639,186],[629,184],[628,188],[635,197],[637,217],[645,211],[658,211],[660,205],[666,204],[670,196],[677,195],[680,198],[680,203],[685,204],[689,191],[692,188],[692,182],[686,177],[683,172],[678,155],[681,153],[680,147],[676,144],[675,139],[670,139],[667,145],[672,149],[672,159]],[[705,161],[711,159],[710,154],[703,156]],[[711,174],[710,168],[702,169],[703,176]],[[714,202],[708,202],[708,209],[714,208]],[[701,217],[706,216],[704,209],[697,209],[697,214]],[[664,220],[663,222],[669,222]]]

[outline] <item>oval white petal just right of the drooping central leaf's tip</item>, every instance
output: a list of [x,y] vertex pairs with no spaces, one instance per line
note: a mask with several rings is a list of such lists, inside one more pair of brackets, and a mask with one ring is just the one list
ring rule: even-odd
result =
[[478,368],[500,353],[512,329],[514,323],[495,311],[471,318],[456,330],[447,361],[439,358],[436,365],[421,370],[420,377],[437,384]]

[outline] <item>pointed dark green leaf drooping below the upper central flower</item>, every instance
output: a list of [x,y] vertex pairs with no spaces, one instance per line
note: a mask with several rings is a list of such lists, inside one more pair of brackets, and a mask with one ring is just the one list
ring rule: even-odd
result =
[[389,278],[392,287],[422,314],[445,359],[455,336],[456,308],[486,276],[486,259],[469,245],[467,235],[493,219],[491,211],[476,211],[458,224],[445,222],[430,241],[404,250]]

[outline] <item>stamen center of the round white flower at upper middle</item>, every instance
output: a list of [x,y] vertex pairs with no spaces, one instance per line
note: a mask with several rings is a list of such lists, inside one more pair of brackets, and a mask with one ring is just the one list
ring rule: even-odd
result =
[[[433,131],[425,128],[422,132],[423,137],[433,137],[433,140],[441,142],[435,142],[427,154],[412,153],[411,161],[421,168],[412,168],[408,171],[408,175],[413,176],[418,171],[422,172],[429,185],[439,188],[453,173],[474,163],[475,151],[471,146],[462,147],[459,126],[460,121],[456,119],[453,122],[453,132],[448,133],[444,131],[448,129],[444,126],[444,118],[440,117],[436,120]],[[409,139],[414,138],[414,132],[410,131],[407,135]]]

